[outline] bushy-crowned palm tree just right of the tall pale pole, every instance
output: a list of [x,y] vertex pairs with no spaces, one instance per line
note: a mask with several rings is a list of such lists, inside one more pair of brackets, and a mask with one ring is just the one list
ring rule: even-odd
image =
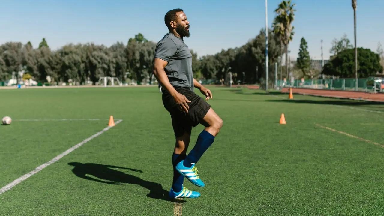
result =
[[292,41],[293,29],[295,27],[292,26],[293,20],[295,20],[295,11],[293,7],[296,4],[292,4],[291,0],[283,0],[278,8],[275,10],[276,17],[275,20],[277,23],[280,23],[281,31],[283,32],[283,44],[285,45],[285,70],[286,77],[288,78],[288,44]]

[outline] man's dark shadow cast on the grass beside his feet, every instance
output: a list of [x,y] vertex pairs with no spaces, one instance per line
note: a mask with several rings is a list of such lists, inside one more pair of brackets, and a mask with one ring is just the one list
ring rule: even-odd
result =
[[[97,181],[104,184],[114,184],[114,185],[119,185],[122,183],[137,184],[149,190],[149,194],[147,194],[147,197],[154,198],[154,199],[162,199],[162,200],[170,201],[174,203],[185,202],[184,200],[169,198],[168,196],[169,192],[163,189],[163,187],[159,183],[146,181],[137,176],[127,174],[122,171],[115,170],[113,168],[126,169],[133,172],[142,173],[143,171],[141,171],[140,169],[132,169],[132,168],[125,168],[120,166],[104,165],[104,164],[97,164],[97,163],[71,162],[71,163],[68,163],[68,165],[74,166],[74,168],[72,169],[72,172],[79,178],[87,179],[90,181]],[[98,179],[92,178],[90,176],[94,176]],[[99,179],[103,179],[103,180],[99,180]]]

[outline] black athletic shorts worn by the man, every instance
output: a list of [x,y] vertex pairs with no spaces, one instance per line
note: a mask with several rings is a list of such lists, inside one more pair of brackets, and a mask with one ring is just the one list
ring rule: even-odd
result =
[[163,105],[169,111],[172,119],[172,127],[175,137],[179,138],[187,132],[191,134],[192,127],[199,125],[200,121],[207,114],[211,105],[189,88],[174,86],[175,90],[184,95],[191,102],[188,103],[188,113],[182,112],[177,108],[174,98],[167,91],[163,90]]

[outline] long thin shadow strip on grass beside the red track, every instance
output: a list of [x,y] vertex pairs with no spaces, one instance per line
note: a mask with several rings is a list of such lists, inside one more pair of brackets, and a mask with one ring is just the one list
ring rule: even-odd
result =
[[329,105],[342,105],[342,106],[364,106],[374,108],[383,108],[383,102],[376,101],[354,101],[349,99],[338,100],[266,100],[268,102],[285,102],[285,103],[311,103],[311,104],[329,104]]

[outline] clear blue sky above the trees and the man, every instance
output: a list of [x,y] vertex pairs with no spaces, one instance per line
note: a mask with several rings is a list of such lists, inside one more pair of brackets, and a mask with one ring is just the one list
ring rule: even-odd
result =
[[[280,0],[268,0],[268,25],[271,27]],[[289,50],[297,57],[300,39],[305,37],[310,55],[324,59],[334,38],[344,33],[353,43],[351,0],[293,0],[296,3],[295,37]],[[34,47],[45,37],[52,49],[66,43],[94,42],[110,46],[127,42],[142,33],[159,41],[167,32],[165,13],[182,8],[190,21],[189,48],[199,56],[222,49],[240,47],[265,27],[264,0],[0,0],[0,43],[14,41]],[[384,45],[383,0],[358,0],[357,44],[376,52]]]

